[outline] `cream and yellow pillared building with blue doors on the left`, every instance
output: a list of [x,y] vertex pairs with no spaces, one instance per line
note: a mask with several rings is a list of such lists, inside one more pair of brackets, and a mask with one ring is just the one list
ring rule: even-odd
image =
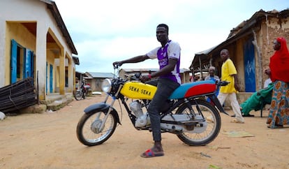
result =
[[0,88],[31,77],[40,101],[73,93],[77,50],[54,1],[1,1],[0,44]]

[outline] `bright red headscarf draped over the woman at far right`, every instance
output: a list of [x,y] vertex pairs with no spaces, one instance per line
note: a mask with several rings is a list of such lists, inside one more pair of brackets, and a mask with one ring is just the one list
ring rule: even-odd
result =
[[281,45],[279,50],[276,50],[273,56],[270,58],[270,70],[271,80],[281,80],[283,82],[289,82],[289,52],[286,43],[286,39],[279,37],[276,39]]

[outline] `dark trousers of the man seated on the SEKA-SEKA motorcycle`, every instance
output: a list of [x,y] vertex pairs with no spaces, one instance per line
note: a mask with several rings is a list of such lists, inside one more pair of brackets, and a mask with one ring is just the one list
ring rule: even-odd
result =
[[[156,81],[147,83],[154,85]],[[159,78],[157,87],[156,94],[154,94],[154,98],[147,111],[151,119],[151,130],[154,141],[161,141],[161,117],[159,112],[162,106],[165,105],[165,101],[167,101],[168,97],[172,94],[172,91],[175,91],[175,89],[179,87],[179,83],[167,78]]]

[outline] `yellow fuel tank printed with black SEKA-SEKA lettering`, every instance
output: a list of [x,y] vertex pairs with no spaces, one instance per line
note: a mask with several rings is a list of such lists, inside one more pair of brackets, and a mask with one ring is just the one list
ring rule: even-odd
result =
[[142,82],[126,82],[120,92],[128,98],[151,100],[156,93],[156,87]]

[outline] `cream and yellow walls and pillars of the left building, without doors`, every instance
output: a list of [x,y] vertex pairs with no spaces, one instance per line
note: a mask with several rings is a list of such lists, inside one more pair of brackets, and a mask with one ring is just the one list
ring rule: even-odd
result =
[[[38,86],[40,99],[46,96],[46,61],[52,63],[52,57],[61,59],[59,71],[59,88],[60,93],[73,91],[75,65],[72,59],[71,49],[66,43],[66,38],[62,35],[57,22],[52,16],[51,11],[47,8],[47,3],[39,0],[9,0],[1,1],[0,6],[0,87],[10,84],[10,41],[15,39],[17,43],[34,50],[36,55],[35,74],[38,72]],[[36,36],[31,34],[22,22],[36,22]],[[56,46],[60,49],[58,56],[52,56],[47,44],[47,33],[54,38]],[[64,60],[68,59],[69,87],[65,88]],[[54,68],[56,70],[56,68]],[[36,75],[34,75],[36,77]]]

